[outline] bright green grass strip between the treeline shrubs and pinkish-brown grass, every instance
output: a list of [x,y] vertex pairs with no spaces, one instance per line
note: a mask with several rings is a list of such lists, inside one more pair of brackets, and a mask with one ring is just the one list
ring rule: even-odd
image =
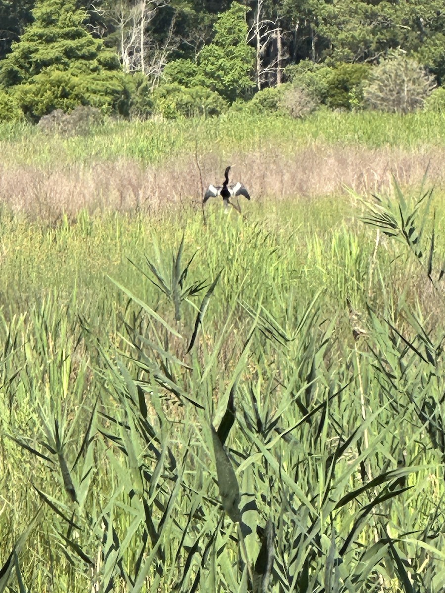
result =
[[59,164],[134,158],[156,163],[173,155],[219,151],[248,153],[279,147],[284,154],[295,147],[358,145],[362,148],[400,149],[443,146],[445,119],[418,112],[404,116],[373,111],[332,113],[320,110],[304,120],[287,117],[227,113],[215,119],[116,122],[109,120],[86,136],[63,138],[21,123],[0,126],[4,162]]

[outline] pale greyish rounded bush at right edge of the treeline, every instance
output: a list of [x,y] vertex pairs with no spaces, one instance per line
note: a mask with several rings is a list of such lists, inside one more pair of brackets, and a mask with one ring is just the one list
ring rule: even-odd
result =
[[424,66],[395,53],[375,66],[364,87],[364,99],[373,109],[409,113],[424,105],[434,86]]

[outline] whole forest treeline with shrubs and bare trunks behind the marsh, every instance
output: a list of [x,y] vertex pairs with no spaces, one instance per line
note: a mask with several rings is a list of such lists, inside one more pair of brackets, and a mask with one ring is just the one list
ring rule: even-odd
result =
[[445,0],[0,0],[0,27],[0,120],[445,108]]

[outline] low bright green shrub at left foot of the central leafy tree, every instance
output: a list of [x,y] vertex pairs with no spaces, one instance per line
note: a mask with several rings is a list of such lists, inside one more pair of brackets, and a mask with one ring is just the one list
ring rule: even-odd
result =
[[167,119],[219,115],[227,103],[214,91],[204,87],[186,88],[180,84],[163,84],[152,93],[153,109]]

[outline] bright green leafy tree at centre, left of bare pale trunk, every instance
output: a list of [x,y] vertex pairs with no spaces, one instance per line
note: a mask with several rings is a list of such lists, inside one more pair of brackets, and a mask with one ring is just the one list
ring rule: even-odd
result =
[[198,56],[198,66],[211,90],[233,102],[252,93],[255,49],[247,44],[246,8],[233,2],[214,26],[213,43]]

